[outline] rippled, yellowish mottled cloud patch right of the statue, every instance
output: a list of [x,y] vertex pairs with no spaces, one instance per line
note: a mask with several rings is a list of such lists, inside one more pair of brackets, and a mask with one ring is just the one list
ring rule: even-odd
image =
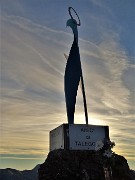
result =
[[121,49],[116,37],[106,34],[104,41],[97,47],[85,43],[85,51],[82,50],[83,58],[86,59],[85,80],[87,86],[89,84],[89,99],[92,100],[93,96],[97,96],[95,97],[97,101],[100,101],[102,107],[108,111],[126,113],[131,108],[129,100],[131,91],[125,86],[123,76],[132,65],[129,64],[128,56]]

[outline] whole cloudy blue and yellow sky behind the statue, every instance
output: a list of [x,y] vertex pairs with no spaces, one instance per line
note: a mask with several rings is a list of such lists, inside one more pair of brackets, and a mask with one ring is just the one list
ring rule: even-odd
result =
[[[1,0],[0,168],[32,169],[49,131],[67,123],[64,72],[78,13],[89,124],[108,125],[113,151],[135,169],[135,1]],[[75,123],[85,124],[78,89]]]

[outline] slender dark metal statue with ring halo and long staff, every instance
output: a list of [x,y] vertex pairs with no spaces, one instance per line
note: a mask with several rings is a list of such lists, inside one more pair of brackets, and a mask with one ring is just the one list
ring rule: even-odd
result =
[[[74,34],[74,41],[73,41],[73,44],[69,53],[69,57],[67,60],[67,65],[65,69],[65,79],[64,79],[68,123],[74,124],[76,96],[77,96],[78,85],[81,80],[86,124],[88,124],[86,96],[85,96],[84,81],[83,81],[82,68],[81,68],[81,62],[80,62],[80,53],[79,53],[79,47],[78,47],[77,26],[80,26],[81,23],[80,23],[80,19],[76,11],[72,7],[69,7],[68,10],[69,10],[69,15],[71,19],[67,21],[67,26],[69,26],[72,29],[73,34]],[[71,14],[71,10],[73,10],[74,13],[76,14],[79,21],[78,23],[73,18]]]

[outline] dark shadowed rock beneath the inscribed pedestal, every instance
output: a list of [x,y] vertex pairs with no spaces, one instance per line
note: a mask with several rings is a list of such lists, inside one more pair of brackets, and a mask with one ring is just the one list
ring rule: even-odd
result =
[[115,154],[107,160],[99,152],[69,150],[50,152],[40,165],[38,176],[39,180],[105,180],[107,166],[111,166],[111,171],[108,168],[111,180],[133,180],[123,156]]

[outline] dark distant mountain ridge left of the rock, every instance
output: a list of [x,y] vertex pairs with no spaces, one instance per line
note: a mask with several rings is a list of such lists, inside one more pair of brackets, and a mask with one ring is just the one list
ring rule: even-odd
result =
[[37,165],[32,170],[19,171],[16,169],[0,169],[0,180],[38,180],[38,168]]

